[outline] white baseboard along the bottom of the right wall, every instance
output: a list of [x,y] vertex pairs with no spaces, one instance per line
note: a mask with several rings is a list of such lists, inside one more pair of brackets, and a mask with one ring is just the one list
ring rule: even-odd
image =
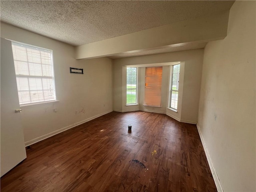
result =
[[221,184],[220,184],[220,180],[219,180],[219,178],[218,178],[217,172],[216,172],[216,170],[215,170],[215,168],[214,168],[214,165],[213,165],[213,163],[212,163],[212,160],[211,160],[211,158],[210,158],[210,154],[209,154],[208,149],[207,149],[207,146],[206,146],[206,144],[205,144],[205,142],[204,142],[204,138],[203,138],[202,132],[201,132],[201,130],[200,130],[200,127],[199,127],[198,124],[196,124],[196,127],[197,127],[197,130],[198,130],[200,139],[201,139],[202,144],[203,144],[203,147],[204,147],[204,152],[205,152],[205,154],[206,154],[206,158],[207,158],[208,164],[209,164],[209,166],[210,166],[210,170],[211,170],[211,172],[212,172],[212,177],[213,177],[213,179],[214,179],[214,182],[215,182],[217,191],[218,191],[218,192],[223,192],[223,188],[222,188],[222,186],[221,186]]

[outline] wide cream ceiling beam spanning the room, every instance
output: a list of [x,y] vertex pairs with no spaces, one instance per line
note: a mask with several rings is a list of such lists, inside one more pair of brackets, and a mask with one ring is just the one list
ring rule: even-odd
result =
[[227,35],[229,11],[192,20],[163,25],[76,47],[76,59],[112,56],[191,42],[209,42]]

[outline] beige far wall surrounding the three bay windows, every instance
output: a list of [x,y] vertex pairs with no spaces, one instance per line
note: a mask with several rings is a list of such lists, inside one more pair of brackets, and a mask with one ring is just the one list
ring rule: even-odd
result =
[[[114,60],[114,110],[116,111],[130,111],[130,110],[144,110],[166,113],[172,116],[176,120],[183,122],[196,123],[198,118],[198,102],[200,95],[200,84],[201,84],[201,73],[202,73],[202,62],[203,62],[203,49],[172,52],[165,54],[155,54],[148,56],[139,56],[131,58],[122,58]],[[170,67],[165,66],[163,71],[163,87],[162,87],[162,108],[144,107],[143,103],[139,106],[126,106],[126,69],[128,65],[141,65],[141,64],[158,64],[167,62],[182,62],[182,71],[184,76],[181,74],[181,78],[184,79],[181,82],[183,86],[183,93],[180,94],[179,100],[182,101],[182,106],[178,112],[174,112],[166,106],[168,106],[168,82]],[[143,71],[141,70],[141,76]],[[141,81],[144,79],[141,78]],[[143,84],[143,83],[142,83]],[[143,89],[140,91],[143,94]],[[165,93],[165,94],[164,94]],[[140,98],[143,99],[142,96]],[[142,102],[142,100],[140,100]]]

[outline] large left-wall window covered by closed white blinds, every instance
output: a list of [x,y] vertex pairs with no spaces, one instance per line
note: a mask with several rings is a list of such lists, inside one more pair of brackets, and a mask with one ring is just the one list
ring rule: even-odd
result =
[[52,50],[12,42],[20,105],[56,100]]

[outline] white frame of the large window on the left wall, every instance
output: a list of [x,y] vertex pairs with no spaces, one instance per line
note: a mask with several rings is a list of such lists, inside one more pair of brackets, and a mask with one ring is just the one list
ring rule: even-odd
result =
[[[53,51],[50,50],[50,49],[47,49],[47,48],[42,48],[42,47],[38,47],[38,46],[34,46],[34,45],[30,45],[30,44],[26,44],[26,43],[22,43],[22,42],[17,42],[17,41],[14,41],[14,40],[10,40],[12,42],[12,52],[14,52],[14,49],[13,49],[13,45],[14,46],[20,46],[20,47],[25,47],[25,48],[29,48],[29,49],[32,49],[32,50],[38,50],[38,51],[42,51],[42,52],[49,52],[50,53],[50,63],[51,63],[51,72],[52,72],[52,76],[44,76],[44,75],[22,75],[22,74],[16,74],[16,70],[15,70],[15,76],[16,76],[16,83],[17,83],[17,86],[18,86],[18,82],[17,82],[17,77],[30,77],[30,78],[37,78],[37,79],[50,79],[52,80],[52,90],[53,90],[53,93],[54,93],[54,98],[52,99],[44,99],[43,101],[42,100],[38,100],[36,102],[33,102],[31,101],[30,99],[30,102],[26,102],[26,103],[23,103],[21,104],[22,102],[20,101],[20,95],[19,95],[19,104],[20,106],[33,106],[33,105],[38,105],[38,104],[46,104],[46,103],[50,103],[50,102],[57,102],[57,97],[56,97],[56,86],[55,86],[55,76],[54,76],[54,62],[53,62]],[[13,56],[13,59],[14,59],[14,67],[16,68],[16,64],[15,64],[15,61],[16,59],[14,58]],[[25,62],[24,62],[25,63]],[[26,63],[28,64],[29,61],[26,61]],[[40,62],[40,66],[42,66],[42,62]],[[28,86],[29,87],[29,86]],[[42,89],[42,91],[44,90],[47,90],[47,89]],[[20,91],[18,90],[18,93]],[[28,92],[31,92],[31,89],[30,87],[28,88]]]

